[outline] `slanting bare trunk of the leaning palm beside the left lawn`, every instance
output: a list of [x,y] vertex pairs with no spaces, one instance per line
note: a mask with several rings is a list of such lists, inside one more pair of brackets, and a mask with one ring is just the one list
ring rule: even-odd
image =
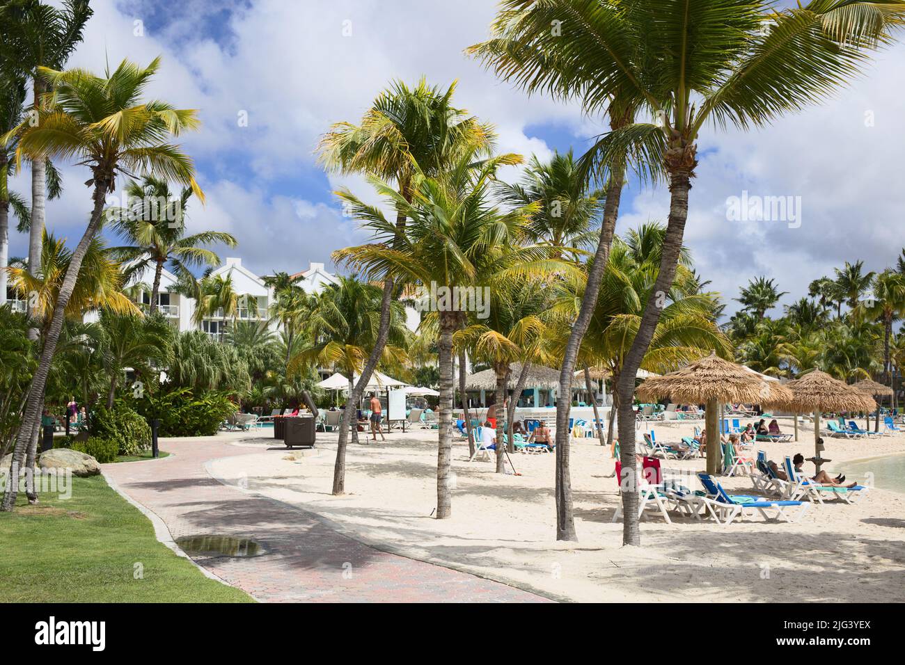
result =
[[[56,352],[57,342],[60,340],[60,332],[62,331],[62,323],[65,318],[66,305],[72,296],[72,290],[75,289],[75,282],[78,279],[81,270],[81,261],[85,258],[85,252],[88,252],[88,245],[94,234],[97,233],[100,225],[100,214],[104,209],[104,196],[107,194],[107,183],[111,177],[95,177],[94,185],[94,210],[91,212],[91,219],[85,233],[81,236],[79,244],[72,257],[66,274],[63,277],[60,292],[57,294],[57,301],[53,307],[53,318],[51,325],[47,329],[44,339],[44,346],[41,352],[41,360],[38,368],[32,377],[32,385],[28,390],[28,402],[25,407],[23,423],[19,427],[16,435],[15,447],[13,449],[13,463],[18,467],[22,466],[26,448],[31,439],[32,429],[35,421],[41,421],[41,404],[43,402],[44,388],[47,385],[47,375],[50,373],[53,354]],[[11,482],[6,487],[6,493],[0,511],[10,511],[15,506],[15,498],[18,484]]]

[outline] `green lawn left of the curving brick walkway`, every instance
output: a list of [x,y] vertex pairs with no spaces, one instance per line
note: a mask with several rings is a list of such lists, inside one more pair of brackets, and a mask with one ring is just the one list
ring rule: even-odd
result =
[[157,542],[102,476],[73,478],[71,499],[48,492],[28,506],[20,494],[0,513],[0,543],[0,603],[253,602]]

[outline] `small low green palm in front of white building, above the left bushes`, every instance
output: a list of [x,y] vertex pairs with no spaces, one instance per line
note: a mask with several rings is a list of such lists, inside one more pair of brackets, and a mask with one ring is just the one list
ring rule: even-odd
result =
[[166,318],[154,314],[144,317],[101,310],[100,330],[100,357],[110,381],[107,408],[112,409],[119,378],[127,367],[148,383],[154,366],[167,360],[173,328]]

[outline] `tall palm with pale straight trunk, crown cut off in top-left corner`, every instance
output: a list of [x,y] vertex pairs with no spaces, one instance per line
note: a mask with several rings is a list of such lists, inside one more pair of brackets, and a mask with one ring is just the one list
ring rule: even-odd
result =
[[[62,9],[38,0],[20,0],[0,7],[0,26],[4,40],[0,46],[3,69],[19,71],[32,79],[33,106],[30,123],[46,113],[43,96],[52,81],[42,74],[44,68],[61,70],[81,43],[82,30],[94,14],[88,0],[66,0]],[[5,129],[4,129],[5,131]],[[0,141],[3,142],[3,141]],[[29,156],[31,157],[31,156]],[[41,237],[44,230],[44,199],[47,196],[47,158],[32,159],[32,209],[29,223],[28,269],[37,275],[41,269]],[[31,313],[35,315],[34,312]],[[30,334],[35,337],[36,333]]]

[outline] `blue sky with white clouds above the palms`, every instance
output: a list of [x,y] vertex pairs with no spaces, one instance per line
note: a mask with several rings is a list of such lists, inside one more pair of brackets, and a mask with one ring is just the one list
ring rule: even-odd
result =
[[[601,131],[598,119],[547,97],[527,97],[462,54],[488,35],[493,0],[92,0],[95,14],[72,65],[101,72],[122,58],[163,64],[150,94],[199,109],[201,131],[185,135],[204,207],[190,208],[189,230],[217,229],[239,239],[228,251],[259,274],[330,263],[333,250],[366,239],[342,215],[332,191],[355,178],[326,175],[313,154],[339,120],[357,121],[379,90],[422,75],[459,81],[455,102],[495,123],[500,149],[548,157],[581,152]],[[775,278],[783,301],[843,261],[870,270],[890,265],[905,245],[900,154],[905,118],[905,48],[879,55],[834,100],[747,134],[708,131],[691,191],[686,243],[700,273],[738,304],[740,285]],[[240,119],[247,117],[247,123]],[[52,232],[81,234],[90,211],[86,174],[60,165],[65,193],[47,209]],[[515,177],[517,174],[513,173]],[[14,188],[30,191],[27,170]],[[789,221],[729,219],[727,200],[787,196]],[[664,221],[664,187],[631,186],[617,233]],[[26,252],[13,233],[11,255]],[[223,253],[222,253],[223,255]]]

